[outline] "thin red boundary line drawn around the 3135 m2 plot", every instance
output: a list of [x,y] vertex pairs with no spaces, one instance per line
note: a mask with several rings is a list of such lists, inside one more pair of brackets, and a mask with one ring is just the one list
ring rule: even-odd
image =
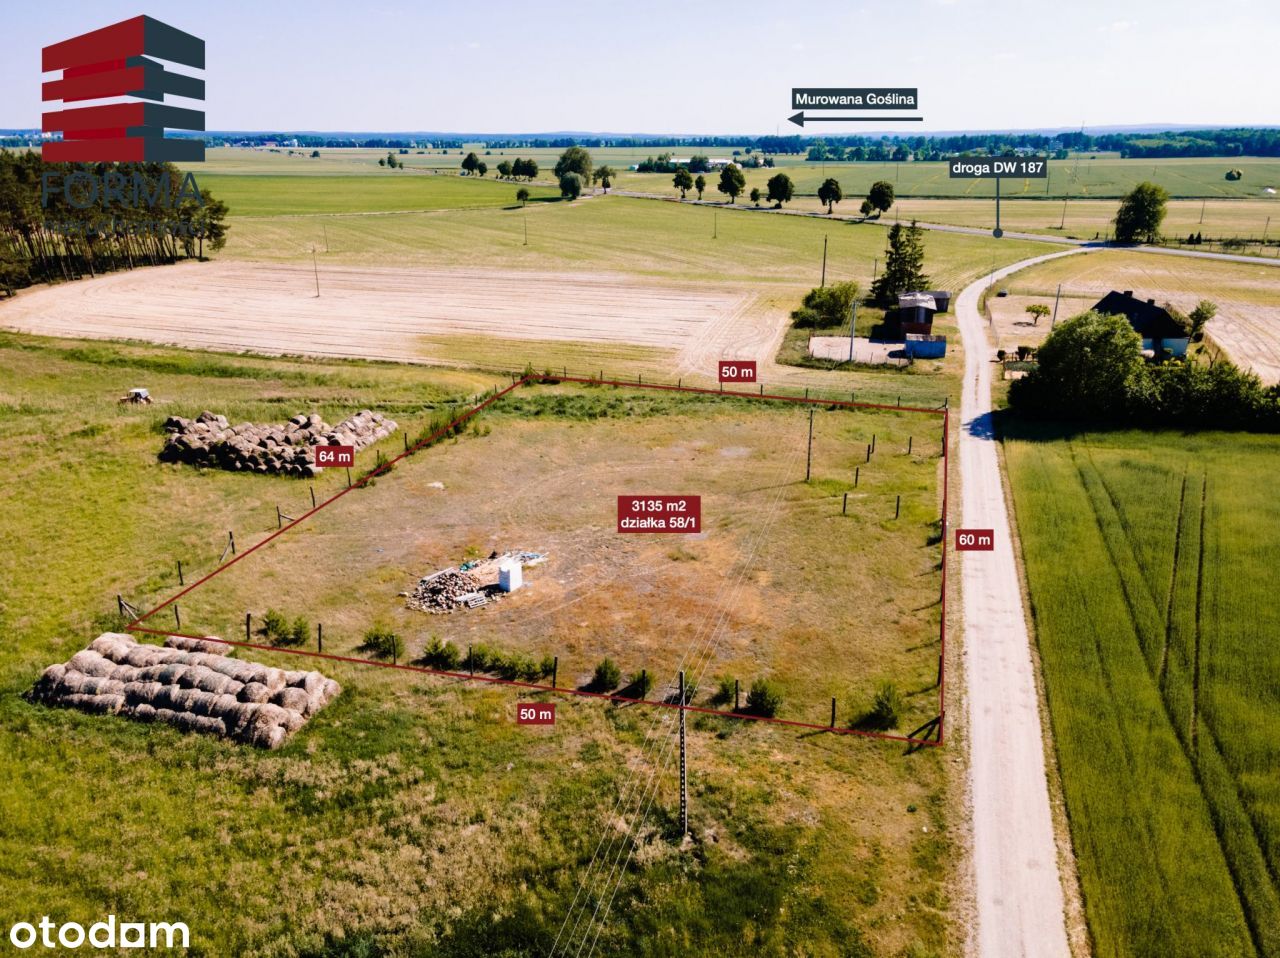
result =
[[[452,672],[452,671],[444,671],[444,670],[439,670],[439,669],[428,669],[425,666],[416,666],[416,665],[407,665],[407,663],[406,665],[401,665],[401,663],[393,663],[393,662],[379,662],[376,660],[356,658],[353,656],[335,656],[335,654],[332,654],[329,652],[310,652],[307,649],[282,648],[282,647],[276,647],[276,645],[262,645],[262,644],[257,644],[257,643],[252,643],[252,642],[236,642],[236,640],[232,640],[232,639],[218,639],[218,638],[212,638],[212,637],[209,637],[209,635],[191,635],[191,634],[187,634],[187,633],[165,631],[165,630],[161,630],[161,629],[148,629],[148,628],[141,625],[141,622],[146,621],[147,619],[150,619],[151,616],[154,616],[156,612],[159,612],[159,611],[161,611],[164,608],[168,608],[174,602],[177,602],[178,599],[180,599],[183,596],[186,596],[186,594],[191,593],[192,590],[195,590],[195,589],[200,588],[201,585],[204,585],[206,581],[209,581],[210,579],[212,579],[215,575],[219,575],[220,572],[224,572],[225,570],[230,569],[233,565],[236,565],[241,560],[247,558],[248,556],[252,556],[260,548],[262,548],[264,546],[266,546],[270,542],[274,542],[278,537],[280,537],[284,533],[289,532],[291,529],[293,529],[300,523],[310,519],[311,516],[314,516],[320,510],[325,508],[326,506],[333,505],[334,502],[337,502],[338,499],[340,499],[347,493],[353,492],[355,489],[362,488],[371,479],[375,479],[379,475],[383,475],[387,471],[389,471],[392,469],[392,466],[394,466],[401,460],[407,459],[408,456],[413,455],[415,452],[417,452],[419,450],[421,450],[421,448],[424,448],[426,446],[430,446],[433,442],[435,442],[436,439],[442,438],[443,435],[447,435],[451,430],[456,429],[462,423],[465,423],[468,419],[471,419],[472,416],[477,415],[480,411],[488,409],[489,406],[492,406],[498,400],[500,400],[504,396],[507,396],[508,393],[518,389],[520,387],[527,386],[530,383],[582,383],[582,384],[589,384],[589,386],[616,386],[616,387],[627,388],[627,389],[659,389],[659,391],[669,391],[669,392],[689,392],[689,393],[698,393],[698,394],[705,394],[705,396],[732,396],[732,397],[748,398],[748,400],[771,400],[771,401],[782,401],[782,402],[796,402],[796,403],[806,403],[806,405],[813,405],[813,406],[837,406],[837,407],[841,407],[841,409],[874,409],[874,410],[886,410],[886,411],[895,411],[895,412],[925,412],[925,414],[929,414],[929,415],[940,415],[940,416],[942,416],[942,593],[941,593],[942,622],[941,622],[940,637],[938,637],[940,638],[940,651],[938,651],[940,663],[938,663],[938,717],[936,720],[937,721],[937,738],[933,738],[933,739],[931,739],[931,738],[914,738],[911,735],[893,735],[891,733],[883,733],[883,731],[867,731],[867,730],[863,730],[863,729],[847,729],[847,727],[838,727],[838,726],[833,726],[833,725],[819,725],[817,722],[801,722],[801,721],[795,721],[795,720],[791,720],[791,718],[773,718],[773,717],[763,716],[763,715],[749,715],[749,713],[744,713],[744,712],[731,712],[731,711],[722,710],[722,708],[707,708],[707,707],[703,707],[703,706],[677,704],[677,703],[673,703],[673,702],[663,702],[660,699],[631,698],[631,697],[627,697],[627,695],[618,695],[618,694],[608,693],[608,692],[588,692],[585,689],[562,689],[562,688],[557,688],[554,685],[539,685],[538,683],[516,681],[516,680],[512,680],[512,679],[498,679],[498,678],[492,676],[492,675],[472,675],[470,672]],[[186,587],[180,592],[174,593],[173,596],[170,596],[169,598],[166,598],[164,602],[161,602],[159,606],[156,606],[151,611],[145,612],[143,615],[140,615],[137,619],[134,619],[132,622],[129,622],[124,628],[125,628],[127,631],[146,633],[148,635],[165,635],[165,637],[175,637],[175,638],[183,638],[183,639],[202,639],[202,640],[206,640],[206,642],[218,642],[218,643],[224,644],[224,645],[234,645],[237,648],[252,648],[252,649],[260,649],[260,651],[264,651],[264,652],[282,652],[284,654],[303,656],[306,658],[321,658],[321,660],[326,660],[326,661],[332,661],[332,662],[348,662],[348,663],[352,663],[352,665],[366,665],[366,666],[375,666],[375,667],[379,667],[379,669],[394,669],[397,671],[419,672],[419,674],[422,674],[422,675],[436,675],[436,676],[447,678],[447,679],[465,679],[465,680],[468,680],[468,681],[489,683],[490,685],[508,685],[508,686],[513,686],[513,688],[529,689],[530,692],[547,692],[547,693],[562,694],[562,695],[579,695],[581,698],[604,699],[604,701],[608,701],[608,702],[620,702],[620,703],[625,703],[625,704],[639,704],[639,706],[659,707],[659,708],[676,708],[676,710],[681,710],[681,711],[685,711],[685,712],[698,712],[698,713],[701,713],[701,715],[716,715],[716,716],[721,716],[721,717],[724,717],[724,718],[739,718],[739,720],[744,720],[744,721],[767,722],[767,724],[771,724],[771,725],[785,725],[785,726],[790,726],[790,727],[794,727],[794,729],[813,729],[813,730],[818,730],[818,731],[832,733],[832,734],[836,734],[836,735],[858,735],[858,736],[868,738],[868,739],[881,739],[881,740],[888,740],[888,742],[904,742],[904,743],[906,743],[909,745],[940,747],[945,742],[945,725],[946,725],[946,699],[945,699],[945,679],[946,679],[946,676],[945,676],[945,667],[946,667],[946,633],[947,633],[947,476],[948,476],[948,473],[950,473],[950,469],[951,469],[950,452],[948,452],[948,442],[950,442],[948,425],[950,425],[950,421],[951,421],[951,411],[947,407],[943,407],[943,409],[925,409],[923,406],[890,406],[888,403],[855,402],[855,401],[851,401],[851,400],[850,401],[844,401],[844,400],[822,400],[822,398],[817,398],[817,397],[815,398],[809,398],[808,396],[804,396],[804,397],[800,397],[800,396],[780,396],[780,394],[774,394],[774,393],[765,393],[763,391],[759,392],[759,393],[753,393],[753,392],[740,392],[740,391],[723,389],[723,388],[721,388],[721,389],[708,389],[708,388],[699,388],[699,387],[692,387],[692,386],[668,386],[666,383],[645,383],[645,382],[641,382],[639,379],[635,383],[630,383],[630,382],[622,382],[622,380],[617,380],[617,379],[590,379],[590,378],[570,377],[570,375],[557,377],[557,375],[545,375],[545,374],[536,374],[536,373],[535,374],[529,374],[529,375],[524,375],[520,379],[512,382],[512,384],[508,386],[506,389],[495,392],[488,400],[484,400],[483,402],[477,403],[476,406],[472,406],[470,410],[467,410],[466,412],[463,412],[462,415],[460,415],[457,419],[452,420],[448,425],[444,425],[444,426],[440,426],[439,429],[436,429],[434,433],[431,433],[425,439],[420,439],[419,442],[413,443],[412,446],[410,446],[401,455],[396,456],[392,460],[388,460],[387,462],[384,462],[381,466],[379,466],[378,469],[372,470],[371,473],[365,474],[358,482],[352,483],[346,489],[340,489],[339,492],[334,493],[328,499],[325,499],[324,502],[320,502],[319,505],[314,506],[307,512],[303,512],[297,519],[291,520],[287,525],[280,526],[279,529],[276,529],[274,533],[271,533],[270,535],[268,535],[261,542],[259,542],[259,543],[256,543],[253,546],[250,546],[247,549],[244,549],[239,555],[234,556],[229,562],[223,562],[220,566],[218,566],[216,569],[214,569],[207,575],[201,576],[200,579],[197,579],[196,581],[193,581],[191,585]]]

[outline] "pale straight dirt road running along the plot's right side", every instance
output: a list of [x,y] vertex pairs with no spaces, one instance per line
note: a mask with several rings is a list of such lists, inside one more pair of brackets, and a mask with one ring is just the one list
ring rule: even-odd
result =
[[[998,270],[995,278],[1074,252],[1024,260]],[[992,552],[965,552],[961,562],[978,899],[978,929],[970,944],[980,958],[1059,958],[1069,954],[1062,884],[1030,639],[992,433],[995,350],[978,311],[978,297],[987,282],[983,277],[972,283],[956,300],[965,351],[960,525],[995,530]]]

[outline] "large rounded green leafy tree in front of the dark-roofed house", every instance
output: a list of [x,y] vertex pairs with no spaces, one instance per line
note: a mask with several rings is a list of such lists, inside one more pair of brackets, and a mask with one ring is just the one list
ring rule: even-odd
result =
[[1142,337],[1124,316],[1088,311],[1048,334],[1039,362],[1009,388],[1018,412],[1052,419],[1123,418],[1144,391]]

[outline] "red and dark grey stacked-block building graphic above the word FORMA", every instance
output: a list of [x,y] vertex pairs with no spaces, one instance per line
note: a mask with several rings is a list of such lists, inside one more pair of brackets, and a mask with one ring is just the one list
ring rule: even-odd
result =
[[[61,141],[45,143],[49,163],[200,161],[204,140],[173,140],[165,129],[205,129],[202,110],[170,106],[165,95],[205,99],[205,81],[174,73],[160,60],[205,69],[205,41],[152,17],[113,23],[46,46],[42,100],[60,100],[63,109],[44,114],[46,133]],[[128,97],[119,102],[119,97]],[[108,104],[68,106],[90,100]]]

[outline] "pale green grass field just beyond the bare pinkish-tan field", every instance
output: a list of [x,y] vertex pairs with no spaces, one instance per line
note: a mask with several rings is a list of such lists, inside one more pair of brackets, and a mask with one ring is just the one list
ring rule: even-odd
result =
[[[255,261],[310,260],[324,250],[315,218],[233,216],[220,256]],[[529,242],[525,245],[527,225]],[[593,197],[525,210],[445,210],[325,220],[324,263],[417,268],[616,272],[666,279],[786,284],[806,289],[822,278],[869,287],[883,260],[886,231],[876,224],[803,216],[726,213],[703,206]],[[714,237],[714,238],[713,238]],[[925,237],[925,268],[938,288],[959,288],[992,268],[1038,252],[1043,243],[946,233]]]

